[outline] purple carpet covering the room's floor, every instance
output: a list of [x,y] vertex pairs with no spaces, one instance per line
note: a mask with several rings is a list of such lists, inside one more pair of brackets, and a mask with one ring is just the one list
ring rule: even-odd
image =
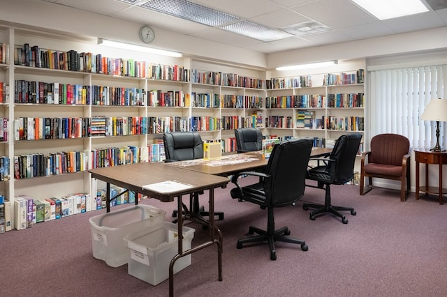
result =
[[[253,182],[246,178],[244,183]],[[321,203],[324,191],[307,188],[295,206],[275,209],[276,227],[309,245],[277,243],[277,261],[268,245],[236,249],[249,225],[265,229],[267,211],[216,193],[217,222],[223,233],[223,281],[217,280],[216,247],[192,255],[191,266],[175,275],[175,296],[447,296],[447,205],[437,199],[406,202],[398,191],[374,188],[358,195],[353,185],[332,186],[332,203],[352,206],[348,224],[324,215],[309,220],[303,201]],[[207,195],[207,193],[205,193]],[[202,201],[206,204],[204,196]],[[186,199],[185,199],[186,200]],[[166,211],[176,203],[145,199]],[[111,268],[91,254],[89,218],[105,212],[71,215],[0,234],[1,296],[168,296],[168,280],[157,286]],[[193,245],[207,236],[200,225]]]

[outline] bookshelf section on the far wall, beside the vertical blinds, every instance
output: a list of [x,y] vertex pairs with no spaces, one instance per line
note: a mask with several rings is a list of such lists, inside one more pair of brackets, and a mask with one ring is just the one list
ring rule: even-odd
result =
[[364,79],[357,81],[364,65],[348,67],[330,74],[272,78],[273,89],[265,99],[268,131],[278,137],[315,137],[316,145],[346,132],[364,133],[365,84]]

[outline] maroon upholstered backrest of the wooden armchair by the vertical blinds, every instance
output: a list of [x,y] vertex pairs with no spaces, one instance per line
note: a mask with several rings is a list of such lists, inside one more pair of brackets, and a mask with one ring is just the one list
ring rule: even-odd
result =
[[371,139],[369,163],[402,166],[402,157],[409,153],[408,138],[392,133],[379,134]]

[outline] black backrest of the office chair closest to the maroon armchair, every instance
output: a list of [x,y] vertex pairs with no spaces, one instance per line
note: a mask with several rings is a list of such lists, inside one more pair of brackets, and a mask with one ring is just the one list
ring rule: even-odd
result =
[[356,162],[361,139],[362,135],[360,133],[353,133],[342,135],[335,142],[329,158],[337,160],[337,162],[328,163],[328,166],[331,167],[328,171],[331,172],[334,183],[346,183],[354,177],[354,163]]

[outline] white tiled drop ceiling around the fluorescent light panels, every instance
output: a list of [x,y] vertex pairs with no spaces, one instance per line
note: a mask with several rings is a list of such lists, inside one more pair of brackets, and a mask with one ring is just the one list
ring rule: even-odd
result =
[[290,33],[286,38],[262,41],[142,7],[148,0],[38,1],[267,54],[447,26],[447,0],[423,0],[428,12],[383,21],[350,0],[190,0],[199,6],[235,15],[245,22]]

